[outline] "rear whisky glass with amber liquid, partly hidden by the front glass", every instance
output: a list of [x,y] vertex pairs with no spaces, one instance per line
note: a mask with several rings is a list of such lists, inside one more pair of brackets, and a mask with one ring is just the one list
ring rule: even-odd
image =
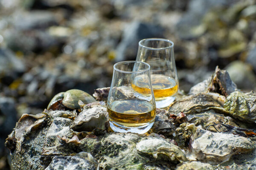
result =
[[[172,41],[162,38],[148,38],[139,42],[136,61],[150,65],[157,108],[169,106],[175,100],[179,88],[173,45]],[[145,88],[139,87],[142,90]]]

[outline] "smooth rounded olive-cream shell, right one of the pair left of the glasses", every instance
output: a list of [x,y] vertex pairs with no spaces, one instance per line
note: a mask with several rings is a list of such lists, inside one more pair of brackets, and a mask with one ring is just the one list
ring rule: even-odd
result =
[[96,100],[90,94],[78,89],[72,89],[64,93],[62,104],[70,109],[79,109],[79,100],[81,100],[84,104],[96,102]]

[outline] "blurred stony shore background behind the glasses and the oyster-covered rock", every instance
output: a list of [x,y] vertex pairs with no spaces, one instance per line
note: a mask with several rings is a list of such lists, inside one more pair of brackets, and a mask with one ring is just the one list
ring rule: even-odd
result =
[[0,170],[23,113],[61,91],[110,86],[113,64],[152,37],[174,42],[185,93],[216,65],[256,90],[256,0],[0,0]]

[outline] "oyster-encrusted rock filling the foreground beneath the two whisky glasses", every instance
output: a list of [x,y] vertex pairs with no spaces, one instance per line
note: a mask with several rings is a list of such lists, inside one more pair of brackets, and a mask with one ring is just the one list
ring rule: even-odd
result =
[[[205,87],[215,81],[211,79]],[[253,169],[256,94],[236,89],[226,99],[221,94],[235,85],[228,74],[218,85],[223,85],[221,91],[214,88],[184,95],[166,110],[157,109],[154,125],[145,134],[113,132],[106,106],[100,102],[79,101],[77,110],[61,107],[23,114],[5,142],[11,152],[11,169]],[[96,97],[106,93],[97,89]],[[246,103],[250,108],[244,108]],[[253,116],[242,114],[246,109]]]

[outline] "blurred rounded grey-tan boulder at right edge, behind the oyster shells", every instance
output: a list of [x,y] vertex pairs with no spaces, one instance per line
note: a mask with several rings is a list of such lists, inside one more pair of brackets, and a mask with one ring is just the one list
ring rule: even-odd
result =
[[244,90],[256,90],[256,75],[253,73],[250,64],[241,61],[234,61],[227,65],[225,69],[229,73],[233,82],[236,83],[238,88]]

